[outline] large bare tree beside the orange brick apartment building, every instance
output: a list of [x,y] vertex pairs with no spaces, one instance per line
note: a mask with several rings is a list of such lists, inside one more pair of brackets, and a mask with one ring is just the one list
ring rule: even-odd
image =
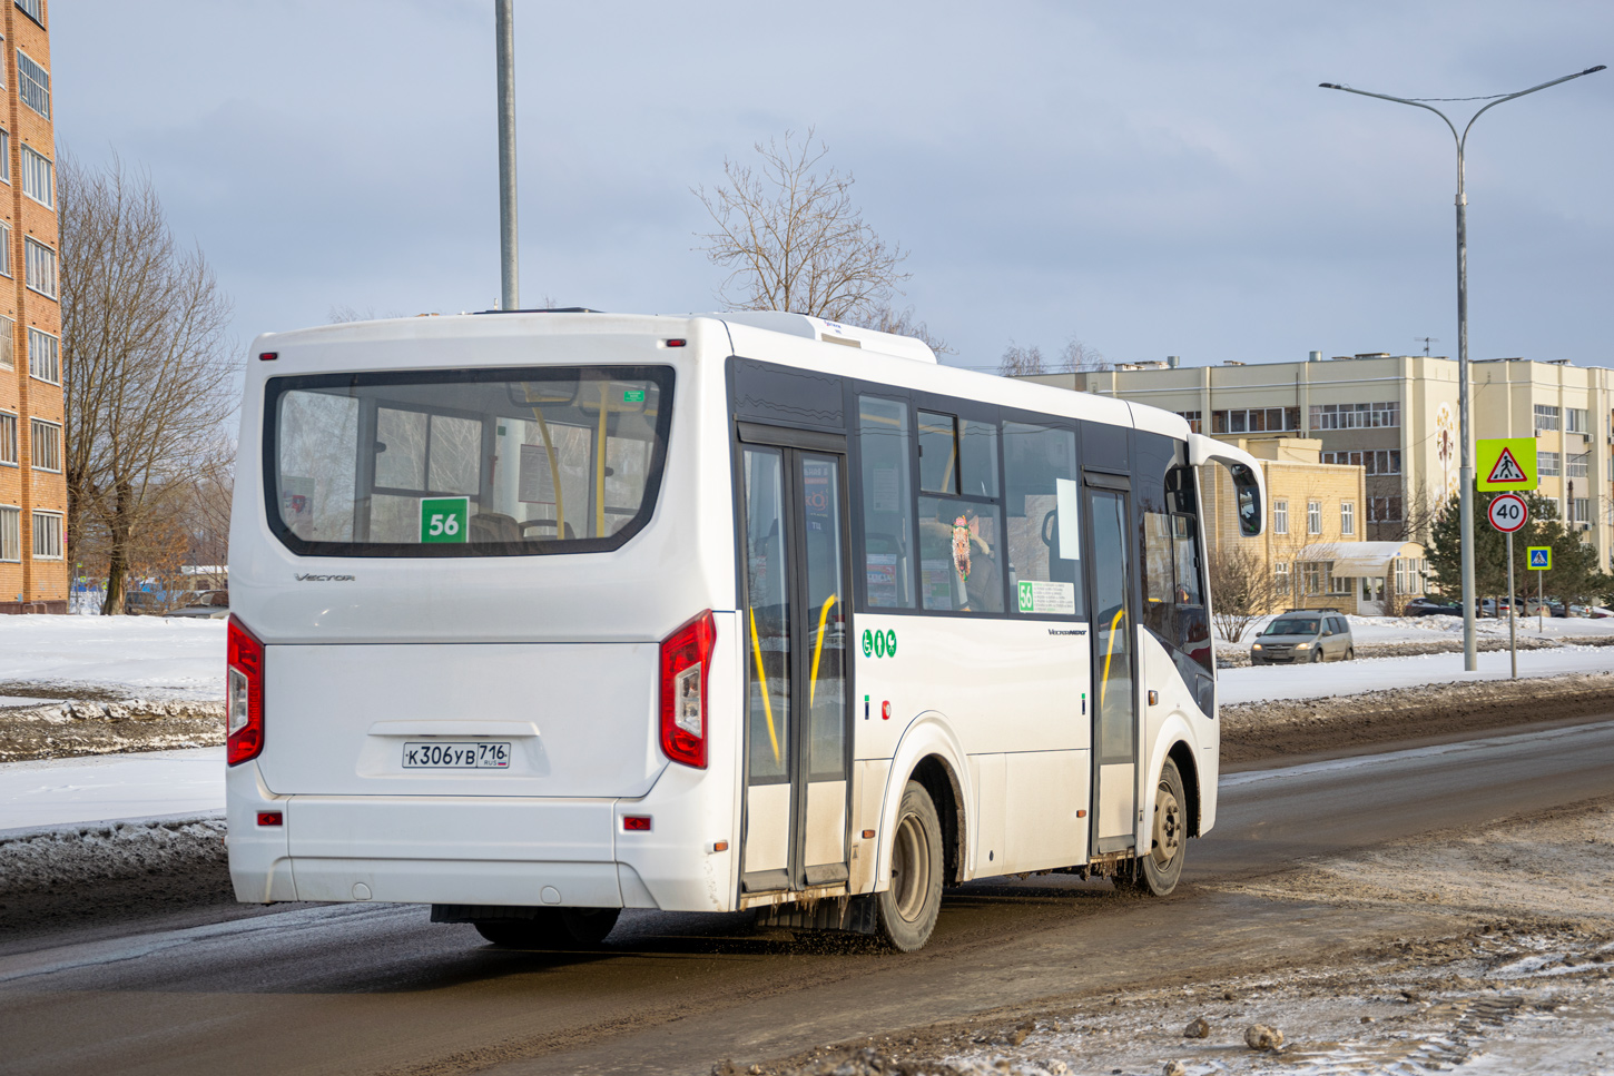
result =
[[152,181],[56,161],[69,558],[107,576],[103,613],[142,565],[182,550],[181,513],[229,415],[229,300],[173,237]]

